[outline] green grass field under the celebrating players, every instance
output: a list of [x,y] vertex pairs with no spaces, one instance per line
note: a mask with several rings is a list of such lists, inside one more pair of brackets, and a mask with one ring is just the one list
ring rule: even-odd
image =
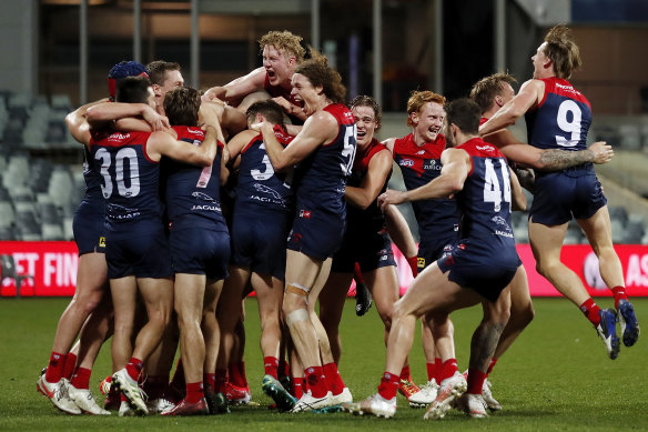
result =
[[[320,430],[648,430],[648,335],[619,358],[608,360],[603,343],[577,308],[564,299],[537,299],[536,319],[497,363],[490,375],[493,393],[504,410],[484,420],[450,411],[445,419],[424,421],[398,396],[391,420],[336,414],[280,414],[267,409],[261,391],[263,375],[259,349],[256,301],[246,303],[247,379],[255,405],[232,408],[232,413],[203,418],[92,418],[57,411],[36,390],[45,365],[60,313],[69,299],[0,300],[0,431],[320,431]],[[347,303],[342,322],[343,358],[340,371],[356,400],[376,390],[384,371],[385,349],[379,319],[372,309],[357,318]],[[609,307],[611,299],[599,304]],[[635,300],[640,323],[648,323],[648,299]],[[459,311],[455,322],[459,369],[467,368],[470,334],[480,309]],[[648,325],[648,324],[645,324]],[[110,373],[110,350],[104,346],[93,371],[91,389],[100,402],[98,383]],[[417,383],[426,381],[421,339],[411,355]]]

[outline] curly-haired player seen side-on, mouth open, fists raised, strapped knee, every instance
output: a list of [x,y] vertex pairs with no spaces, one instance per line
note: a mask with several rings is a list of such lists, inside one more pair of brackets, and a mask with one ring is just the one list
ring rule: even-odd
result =
[[[344,235],[344,190],[355,155],[356,129],[353,114],[342,104],[346,93],[342,78],[326,66],[324,57],[315,54],[300,64],[292,84],[293,94],[304,101],[308,115],[302,131],[284,148],[272,123],[264,121],[256,128],[275,170],[298,163],[283,312],[311,389],[293,408],[293,412],[300,412],[335,404],[344,391],[314,304],[328,278],[331,257]],[[281,386],[271,378],[269,385]]]

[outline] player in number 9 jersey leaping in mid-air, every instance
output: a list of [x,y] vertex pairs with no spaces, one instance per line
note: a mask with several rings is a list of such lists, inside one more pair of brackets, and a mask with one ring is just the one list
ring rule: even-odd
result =
[[[506,128],[526,113],[529,144],[540,149],[585,150],[591,107],[567,81],[581,64],[578,47],[568,29],[556,26],[549,30],[531,61],[534,78],[479,128],[479,133],[484,135]],[[599,309],[580,278],[560,262],[560,249],[571,218],[576,218],[599,259],[600,274],[612,291],[616,312]],[[639,324],[625,292],[622,268],[612,245],[607,200],[591,163],[536,173],[529,240],[538,272],[580,308],[603,339],[610,359],[617,358],[620,348],[617,319],[624,344],[635,344]]]

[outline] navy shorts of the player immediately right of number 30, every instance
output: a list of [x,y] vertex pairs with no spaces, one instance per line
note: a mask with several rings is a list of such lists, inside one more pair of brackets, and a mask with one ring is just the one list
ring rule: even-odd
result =
[[205,274],[210,280],[227,278],[230,233],[201,227],[174,224],[169,234],[175,273]]

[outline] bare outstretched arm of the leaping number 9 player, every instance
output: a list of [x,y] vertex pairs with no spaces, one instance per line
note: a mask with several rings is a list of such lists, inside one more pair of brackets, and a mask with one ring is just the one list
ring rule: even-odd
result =
[[506,102],[488,121],[479,127],[479,135],[508,128],[524,115],[530,108],[536,107],[545,93],[545,83],[540,80],[528,80],[517,96]]

